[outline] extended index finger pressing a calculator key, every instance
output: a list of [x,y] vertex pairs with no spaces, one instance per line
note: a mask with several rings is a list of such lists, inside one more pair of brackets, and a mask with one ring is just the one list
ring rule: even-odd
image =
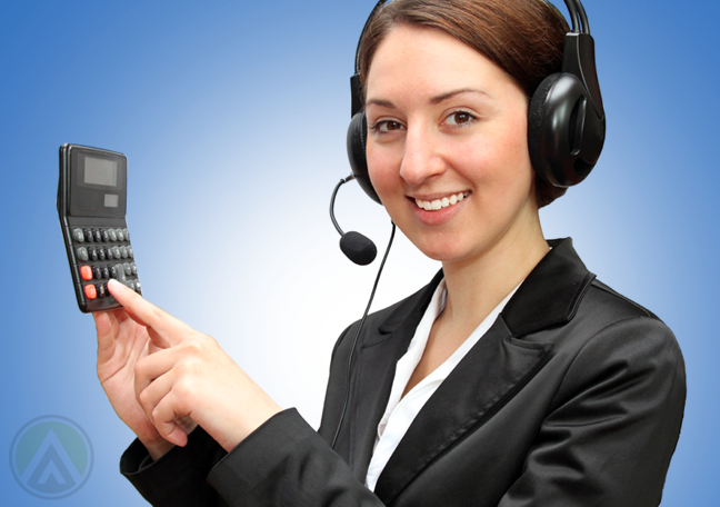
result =
[[147,327],[149,331],[154,331],[149,335],[159,347],[178,345],[182,335],[192,330],[182,320],[174,318],[114,279],[109,280],[108,290],[136,322]]

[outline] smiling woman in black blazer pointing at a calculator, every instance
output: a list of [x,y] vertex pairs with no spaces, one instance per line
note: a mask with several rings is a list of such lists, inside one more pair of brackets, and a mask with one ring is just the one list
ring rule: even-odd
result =
[[540,0],[394,0],[372,18],[359,53],[370,181],[442,271],[343,332],[319,433],[212,338],[109,287],[126,310],[96,315],[98,374],[138,436],[121,468],[146,498],[660,503],[684,404],[674,337],[538,218],[561,192],[533,171],[528,102],[566,31]]

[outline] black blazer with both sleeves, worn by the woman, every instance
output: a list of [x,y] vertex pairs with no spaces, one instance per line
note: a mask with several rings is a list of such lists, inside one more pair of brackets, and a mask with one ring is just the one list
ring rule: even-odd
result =
[[396,362],[441,272],[368,318],[334,451],[357,322],[333,350],[319,433],[287,410],[229,455],[198,429],[141,467],[136,441],[123,473],[154,505],[657,506],[684,407],[678,344],[597,281],[570,239],[551,246],[418,414],[374,494],[362,483]]

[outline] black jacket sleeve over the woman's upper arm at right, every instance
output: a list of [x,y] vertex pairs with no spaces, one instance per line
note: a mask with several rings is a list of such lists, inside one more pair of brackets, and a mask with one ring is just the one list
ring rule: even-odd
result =
[[659,505],[684,399],[682,355],[661,321],[607,327],[567,370],[499,507]]

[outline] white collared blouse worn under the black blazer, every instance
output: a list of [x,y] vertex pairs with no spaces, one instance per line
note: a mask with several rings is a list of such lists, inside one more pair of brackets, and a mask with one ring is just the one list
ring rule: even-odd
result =
[[[518,285],[520,287],[520,285]],[[368,476],[366,478],[366,486],[374,490],[378,483],[380,473],[388,464],[390,456],[394,453],[404,436],[406,431],[412,424],[422,406],[430,399],[436,389],[442,381],[450,375],[460,360],[468,354],[468,351],[482,338],[482,336],[490,329],[490,326],[496,321],[506,304],[510,300],[512,295],[518,290],[518,287],[502,300],[500,304],[484,318],[480,326],[468,337],[467,340],[450,356],[442,365],[434,371],[423,378],[417,386],[414,386],[404,397],[404,390],[410,376],[414,371],[426,345],[428,337],[432,329],[432,324],[442,314],[444,309],[448,290],[446,282],[442,280],[434,294],[432,300],[428,305],[418,328],[416,329],[412,341],[408,347],[408,351],[398,360],[396,367],[396,376],[392,380],[392,389],[390,398],[388,399],[388,407],[384,415],[378,425],[378,436],[376,438],[376,446],[372,453],[372,459],[368,468]],[[401,398],[402,397],[402,398]]]

